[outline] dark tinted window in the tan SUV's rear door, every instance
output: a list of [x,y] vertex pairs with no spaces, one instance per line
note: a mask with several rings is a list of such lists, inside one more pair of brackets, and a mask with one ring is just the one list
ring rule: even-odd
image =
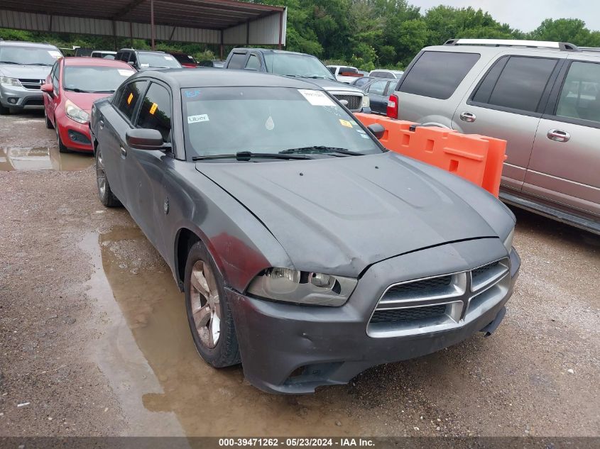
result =
[[535,112],[557,60],[511,56],[498,61],[479,84],[473,101]]

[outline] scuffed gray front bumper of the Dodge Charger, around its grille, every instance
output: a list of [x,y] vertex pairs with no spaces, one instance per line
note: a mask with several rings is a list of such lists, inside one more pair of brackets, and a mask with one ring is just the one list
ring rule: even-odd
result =
[[[302,394],[345,384],[375,365],[398,362],[454,345],[484,328],[495,328],[513,292],[520,259],[513,249],[503,296],[476,316],[446,330],[370,336],[367,327],[388,286],[409,279],[471,270],[506,259],[495,238],[468,240],[393,257],[369,267],[342,307],[297,306],[249,298],[228,290],[244,375],[266,392]],[[468,316],[468,315],[467,315]],[[490,326],[493,321],[495,326]],[[391,334],[393,335],[393,333]]]

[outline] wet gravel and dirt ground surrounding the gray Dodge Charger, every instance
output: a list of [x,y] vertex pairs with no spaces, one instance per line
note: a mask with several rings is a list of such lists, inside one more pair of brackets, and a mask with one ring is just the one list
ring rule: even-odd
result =
[[165,262],[43,116],[0,118],[0,187],[0,436],[600,435],[585,231],[516,210],[523,265],[493,336],[273,396],[202,362]]

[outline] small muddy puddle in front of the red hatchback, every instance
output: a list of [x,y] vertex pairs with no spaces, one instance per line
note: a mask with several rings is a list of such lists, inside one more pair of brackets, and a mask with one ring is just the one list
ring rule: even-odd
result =
[[86,153],[60,153],[56,147],[0,148],[0,171],[56,170],[75,172],[94,163]]

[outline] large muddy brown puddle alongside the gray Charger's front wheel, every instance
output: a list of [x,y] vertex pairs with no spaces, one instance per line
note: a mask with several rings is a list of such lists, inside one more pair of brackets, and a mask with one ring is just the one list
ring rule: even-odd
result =
[[138,435],[355,436],[363,431],[343,399],[344,387],[275,396],[246,382],[241,366],[215,370],[204,363],[187,325],[183,294],[138,228],[90,234],[82,246],[97,260],[89,296],[106,314],[94,358],[125,414],[129,409],[135,416]]

